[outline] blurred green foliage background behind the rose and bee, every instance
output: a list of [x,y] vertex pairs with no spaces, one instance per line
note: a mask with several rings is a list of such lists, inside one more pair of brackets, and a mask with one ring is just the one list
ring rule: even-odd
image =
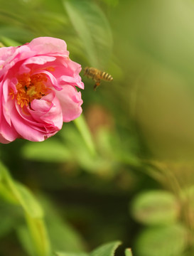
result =
[[[94,92],[82,71],[81,119],[0,145],[43,207],[53,253],[121,240],[116,255],[194,255],[193,23],[192,0],[0,0],[5,46],[61,38],[82,70],[114,78]],[[0,221],[0,255],[37,255],[21,206],[2,197]]]

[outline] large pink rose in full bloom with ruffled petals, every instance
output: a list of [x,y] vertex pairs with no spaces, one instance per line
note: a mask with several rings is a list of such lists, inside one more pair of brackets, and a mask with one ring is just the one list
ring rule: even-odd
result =
[[69,58],[65,41],[41,37],[0,48],[0,142],[42,142],[63,122],[80,116],[81,66]]

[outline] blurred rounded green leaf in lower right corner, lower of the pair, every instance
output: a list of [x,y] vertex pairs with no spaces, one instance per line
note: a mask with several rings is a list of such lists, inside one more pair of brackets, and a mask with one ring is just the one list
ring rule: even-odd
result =
[[181,225],[144,230],[136,242],[139,256],[182,255],[187,246],[187,231]]

